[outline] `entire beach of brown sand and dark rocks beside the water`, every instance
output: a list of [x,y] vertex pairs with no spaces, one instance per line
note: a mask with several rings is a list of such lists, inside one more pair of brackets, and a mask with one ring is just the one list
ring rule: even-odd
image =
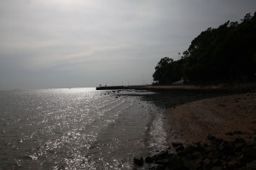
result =
[[166,108],[169,148],[135,157],[134,169],[256,169],[255,92],[176,90],[144,98]]

